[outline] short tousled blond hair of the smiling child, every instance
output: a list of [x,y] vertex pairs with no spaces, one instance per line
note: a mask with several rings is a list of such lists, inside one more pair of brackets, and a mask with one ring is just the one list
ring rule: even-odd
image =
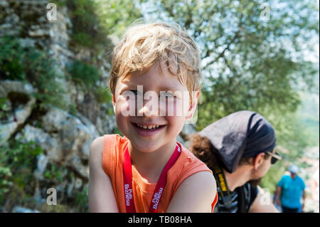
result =
[[196,43],[177,23],[157,22],[128,28],[115,46],[109,81],[112,94],[118,78],[162,62],[189,93],[200,90],[201,58]]

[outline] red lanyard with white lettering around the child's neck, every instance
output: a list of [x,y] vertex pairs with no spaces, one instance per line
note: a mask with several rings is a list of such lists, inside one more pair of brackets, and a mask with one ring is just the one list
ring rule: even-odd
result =
[[[166,173],[174,165],[179,155],[181,154],[181,148],[176,144],[176,149],[174,154],[171,155],[171,158],[166,163],[164,170],[161,172],[159,181],[156,184],[156,189],[154,189],[154,195],[152,196],[149,213],[156,213],[156,210],[159,206],[159,201],[162,194],[164,194],[164,186],[166,186]],[[124,182],[124,202],[126,204],[127,213],[135,213],[136,209],[134,208],[134,199],[132,191],[132,165],[129,155],[128,147],[124,150],[123,154],[123,182]]]

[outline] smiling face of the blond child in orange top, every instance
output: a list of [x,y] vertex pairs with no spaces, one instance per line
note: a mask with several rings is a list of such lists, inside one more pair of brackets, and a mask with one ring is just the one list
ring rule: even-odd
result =
[[153,152],[176,142],[185,120],[191,119],[197,100],[198,92],[191,104],[186,85],[161,63],[161,67],[155,64],[150,70],[119,78],[113,105],[117,126],[132,147]]

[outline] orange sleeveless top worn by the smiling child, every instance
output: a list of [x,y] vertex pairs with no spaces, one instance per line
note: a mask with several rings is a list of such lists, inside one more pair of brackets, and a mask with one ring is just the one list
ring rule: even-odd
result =
[[[126,206],[124,201],[123,189],[123,167],[122,159],[124,149],[127,147],[129,140],[126,137],[121,137],[119,134],[106,134],[102,155],[102,167],[105,173],[112,181],[115,199],[119,212],[125,213]],[[159,213],[166,212],[169,203],[176,193],[178,186],[188,176],[195,174],[198,171],[212,171],[197,159],[191,152],[178,143],[181,147],[181,154],[176,160],[176,163],[169,169],[166,176],[166,186],[164,194],[161,196],[158,211]],[[144,181],[137,169],[132,166],[132,189],[134,197],[134,206],[136,212],[149,212],[150,201],[154,194],[156,183],[150,184]],[[211,205],[211,211],[218,201],[218,193],[215,194],[215,199]]]

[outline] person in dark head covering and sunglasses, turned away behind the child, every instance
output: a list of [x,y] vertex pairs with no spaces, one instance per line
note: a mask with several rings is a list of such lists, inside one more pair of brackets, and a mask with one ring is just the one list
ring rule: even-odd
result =
[[191,151],[215,174],[218,206],[215,212],[278,212],[260,187],[274,152],[272,125],[257,112],[243,110],[213,122],[191,137]]

